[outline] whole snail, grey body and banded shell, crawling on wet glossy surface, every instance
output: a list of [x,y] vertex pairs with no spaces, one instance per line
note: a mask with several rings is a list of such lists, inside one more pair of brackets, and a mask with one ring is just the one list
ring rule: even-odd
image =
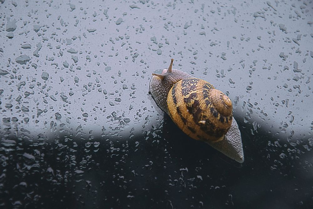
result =
[[149,87],[156,105],[189,137],[243,163],[241,133],[231,100],[209,82],[172,69],[173,61],[161,74],[152,73]]

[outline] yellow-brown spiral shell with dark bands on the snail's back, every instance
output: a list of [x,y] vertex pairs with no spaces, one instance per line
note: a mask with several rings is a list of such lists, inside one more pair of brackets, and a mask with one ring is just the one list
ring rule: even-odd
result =
[[175,83],[167,96],[167,110],[184,133],[202,141],[222,140],[233,119],[231,100],[199,78]]

